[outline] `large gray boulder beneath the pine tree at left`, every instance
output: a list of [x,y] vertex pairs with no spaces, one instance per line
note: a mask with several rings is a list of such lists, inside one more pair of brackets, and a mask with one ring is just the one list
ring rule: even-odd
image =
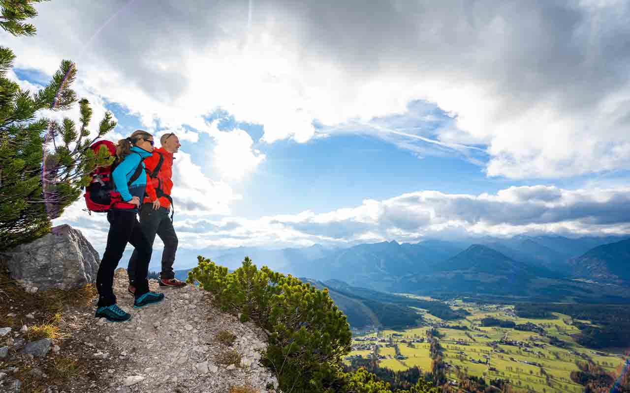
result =
[[64,224],[3,253],[11,278],[26,289],[73,289],[96,281],[100,258],[81,231]]

